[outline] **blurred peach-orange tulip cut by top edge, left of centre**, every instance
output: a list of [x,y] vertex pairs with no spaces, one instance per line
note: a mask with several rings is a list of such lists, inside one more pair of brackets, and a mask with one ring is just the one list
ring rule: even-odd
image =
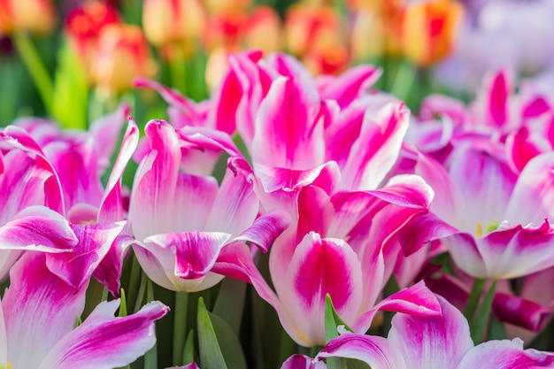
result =
[[142,27],[156,46],[190,44],[204,33],[206,12],[200,0],[145,0]]

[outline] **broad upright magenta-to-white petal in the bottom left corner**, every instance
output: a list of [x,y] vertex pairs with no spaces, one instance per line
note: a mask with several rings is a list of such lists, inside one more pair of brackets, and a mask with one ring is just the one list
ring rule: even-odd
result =
[[44,254],[35,252],[13,265],[10,280],[2,299],[8,359],[16,368],[37,368],[56,342],[72,331],[87,288],[75,291],[50,273]]

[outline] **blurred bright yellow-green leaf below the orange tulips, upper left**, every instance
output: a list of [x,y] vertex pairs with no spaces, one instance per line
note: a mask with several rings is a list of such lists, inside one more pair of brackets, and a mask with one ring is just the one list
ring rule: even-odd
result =
[[52,114],[61,127],[87,129],[88,81],[81,61],[65,42],[58,51]]

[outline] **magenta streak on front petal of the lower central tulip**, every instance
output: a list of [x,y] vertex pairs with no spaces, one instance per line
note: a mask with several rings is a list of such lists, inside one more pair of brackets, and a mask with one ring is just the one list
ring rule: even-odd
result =
[[[304,259],[298,265],[295,289],[306,307],[312,304],[322,304],[329,294],[340,310],[352,293],[349,271],[350,265],[346,256],[340,251],[340,246],[330,240],[319,237],[312,243]],[[319,298],[320,301],[314,301]]]

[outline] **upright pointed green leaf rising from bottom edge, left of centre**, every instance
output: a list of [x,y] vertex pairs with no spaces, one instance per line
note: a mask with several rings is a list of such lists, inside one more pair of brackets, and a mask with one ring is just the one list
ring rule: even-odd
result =
[[223,354],[219,349],[218,339],[213,329],[210,314],[206,310],[202,297],[198,299],[196,319],[198,348],[200,350],[200,367],[202,367],[202,369],[227,369]]

